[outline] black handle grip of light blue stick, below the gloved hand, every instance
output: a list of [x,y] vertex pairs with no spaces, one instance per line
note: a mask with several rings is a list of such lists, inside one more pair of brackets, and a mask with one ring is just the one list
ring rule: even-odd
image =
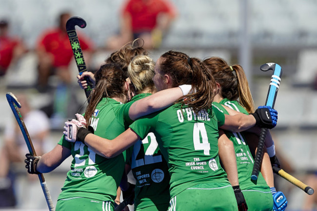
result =
[[252,180],[257,180],[258,179],[258,172],[260,170],[260,165],[261,165],[261,160],[263,157],[263,151],[264,151],[264,143],[265,143],[265,137],[266,137],[267,129],[262,128],[260,132],[260,137],[258,139],[258,149],[257,149],[257,154],[254,159],[254,166],[251,174],[251,179]]

